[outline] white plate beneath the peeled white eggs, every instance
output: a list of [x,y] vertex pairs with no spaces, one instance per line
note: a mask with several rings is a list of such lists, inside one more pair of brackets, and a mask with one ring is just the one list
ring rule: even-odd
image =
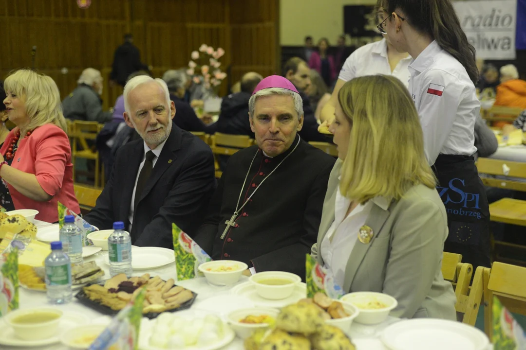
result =
[[[184,310],[177,312],[177,316],[183,317],[185,319],[186,317],[194,318],[194,317],[205,317],[205,315],[210,314],[209,312],[201,311],[201,310]],[[143,320],[140,324],[140,333],[139,333],[139,349],[140,350],[163,350],[162,348],[151,346],[149,344],[149,339],[151,335],[151,328],[155,324],[155,319],[148,320],[146,317],[143,317]],[[232,328],[223,321],[223,326],[225,330],[224,337],[218,341],[215,344],[210,344],[208,346],[186,346],[185,350],[216,350],[220,349],[222,347],[227,346],[230,344],[234,338],[236,337],[236,333],[232,331]]]

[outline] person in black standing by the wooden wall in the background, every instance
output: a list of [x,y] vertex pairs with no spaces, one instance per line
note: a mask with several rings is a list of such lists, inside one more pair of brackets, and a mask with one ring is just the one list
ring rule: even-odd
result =
[[148,67],[140,61],[140,52],[133,45],[133,36],[126,34],[124,44],[115,50],[109,81],[124,87],[129,75],[139,70],[149,71]]

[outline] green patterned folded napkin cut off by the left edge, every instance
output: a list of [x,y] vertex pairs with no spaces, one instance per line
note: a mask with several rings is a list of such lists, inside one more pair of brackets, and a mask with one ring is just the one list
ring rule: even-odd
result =
[[18,249],[0,255],[0,317],[18,309]]

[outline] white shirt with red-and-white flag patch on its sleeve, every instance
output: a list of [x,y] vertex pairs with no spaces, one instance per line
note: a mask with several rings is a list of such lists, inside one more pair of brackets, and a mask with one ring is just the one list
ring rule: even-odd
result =
[[430,165],[439,154],[472,155],[480,102],[468,72],[433,41],[409,65],[409,92],[416,105]]

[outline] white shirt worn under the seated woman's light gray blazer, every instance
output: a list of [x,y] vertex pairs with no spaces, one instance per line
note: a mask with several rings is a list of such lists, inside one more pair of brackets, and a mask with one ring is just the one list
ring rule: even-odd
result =
[[[359,204],[345,217],[351,200],[342,196],[340,189],[336,193],[335,219],[321,241],[320,253],[325,267],[332,272],[335,282],[343,287],[345,268],[352,248],[358,241],[358,231],[365,225],[371,212],[372,201],[365,205]],[[361,243],[358,243],[361,244]]]

